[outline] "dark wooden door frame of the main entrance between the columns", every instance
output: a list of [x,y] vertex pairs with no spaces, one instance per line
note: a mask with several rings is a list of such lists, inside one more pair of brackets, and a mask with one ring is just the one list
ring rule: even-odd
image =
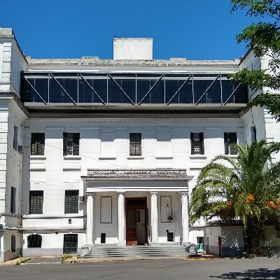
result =
[[[130,204],[130,201],[132,200],[145,200],[144,204]],[[146,227],[146,243],[148,240],[148,217],[146,215],[147,213],[147,197],[125,197],[125,239],[127,239],[127,211],[129,210],[141,210],[144,209],[145,210],[145,227]],[[136,223],[136,228],[135,231],[137,232],[137,223]],[[127,246],[132,246],[132,245],[137,245],[137,233],[135,234],[135,241],[129,241],[126,242]]]

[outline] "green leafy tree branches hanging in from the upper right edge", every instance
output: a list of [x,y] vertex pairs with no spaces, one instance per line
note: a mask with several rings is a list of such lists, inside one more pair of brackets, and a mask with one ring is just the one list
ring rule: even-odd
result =
[[[231,0],[232,11],[247,10],[248,16],[267,18],[267,22],[253,23],[237,35],[237,43],[245,42],[246,48],[262,57],[269,57],[269,69],[242,69],[232,78],[253,90],[270,87],[280,90],[280,3],[279,0]],[[267,106],[272,116],[280,121],[280,96],[263,92],[248,103],[248,107]]]

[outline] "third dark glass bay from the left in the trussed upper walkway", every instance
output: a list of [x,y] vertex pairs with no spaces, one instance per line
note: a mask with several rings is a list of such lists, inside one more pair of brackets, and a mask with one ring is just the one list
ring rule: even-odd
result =
[[[80,103],[102,103],[107,102],[107,80],[102,79],[86,79],[87,83],[80,78],[79,80],[79,102]],[[90,85],[90,86],[89,86]],[[93,88],[93,91],[90,87]],[[99,95],[99,97],[97,96]]]

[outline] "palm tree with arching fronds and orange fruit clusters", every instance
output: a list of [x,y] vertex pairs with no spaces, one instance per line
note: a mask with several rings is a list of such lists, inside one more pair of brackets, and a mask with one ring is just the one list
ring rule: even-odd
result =
[[241,221],[247,253],[265,255],[259,241],[262,226],[280,218],[280,162],[273,164],[271,157],[280,144],[263,140],[234,146],[237,159],[218,155],[202,169],[190,202],[191,219]]

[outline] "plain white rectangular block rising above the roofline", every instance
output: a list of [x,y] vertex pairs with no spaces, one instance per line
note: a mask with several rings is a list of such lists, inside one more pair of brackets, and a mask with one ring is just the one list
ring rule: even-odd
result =
[[113,59],[153,59],[153,38],[113,38]]

